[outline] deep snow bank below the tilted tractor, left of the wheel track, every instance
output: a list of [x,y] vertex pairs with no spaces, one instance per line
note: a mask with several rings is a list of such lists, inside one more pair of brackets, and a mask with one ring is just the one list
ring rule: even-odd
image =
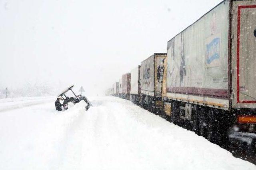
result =
[[84,101],[57,112],[54,103],[9,110],[0,114],[0,169],[55,170]]

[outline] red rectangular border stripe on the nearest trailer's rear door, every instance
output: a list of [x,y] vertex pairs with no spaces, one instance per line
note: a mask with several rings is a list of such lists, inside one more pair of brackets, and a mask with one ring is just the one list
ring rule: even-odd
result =
[[236,48],[236,90],[237,90],[237,103],[256,103],[256,100],[240,100],[239,99],[239,55],[240,55],[240,20],[241,20],[241,9],[243,8],[256,8],[256,5],[242,5],[238,6],[237,13],[237,48]]

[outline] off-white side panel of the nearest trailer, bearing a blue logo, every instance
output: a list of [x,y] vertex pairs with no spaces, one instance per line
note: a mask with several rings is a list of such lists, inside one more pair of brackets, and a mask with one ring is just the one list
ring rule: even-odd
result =
[[167,96],[228,108],[228,23],[226,0],[168,42]]

